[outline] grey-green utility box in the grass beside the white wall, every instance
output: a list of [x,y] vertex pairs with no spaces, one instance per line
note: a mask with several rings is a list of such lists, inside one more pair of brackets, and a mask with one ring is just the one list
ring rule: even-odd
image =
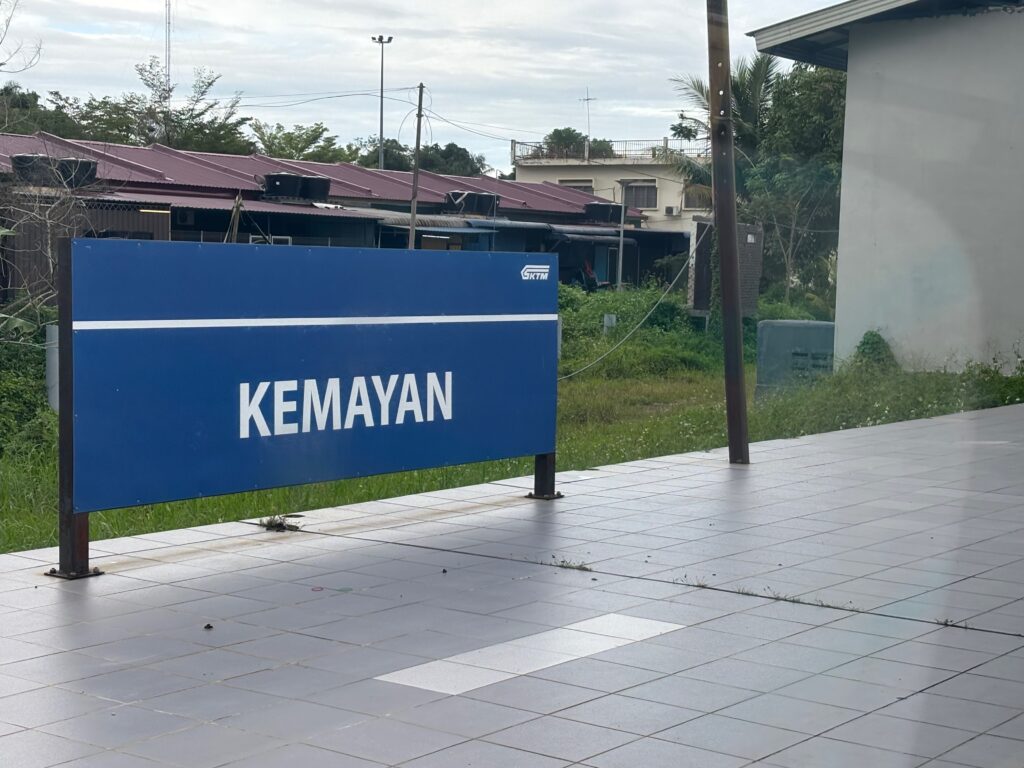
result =
[[835,323],[762,321],[758,324],[756,396],[830,375],[835,346]]

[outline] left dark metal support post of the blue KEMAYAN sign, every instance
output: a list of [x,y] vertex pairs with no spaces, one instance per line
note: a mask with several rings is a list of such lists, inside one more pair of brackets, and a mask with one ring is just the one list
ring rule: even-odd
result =
[[59,442],[57,460],[59,478],[57,487],[58,530],[60,563],[51,568],[49,575],[60,579],[83,579],[98,575],[98,568],[89,568],[89,516],[75,514],[73,506],[75,488],[75,402],[74,354],[72,344],[72,281],[71,241],[60,242],[57,254],[57,343],[59,370]]

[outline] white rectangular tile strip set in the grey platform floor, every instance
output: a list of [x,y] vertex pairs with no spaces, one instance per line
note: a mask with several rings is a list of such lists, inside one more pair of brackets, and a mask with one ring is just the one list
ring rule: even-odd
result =
[[457,695],[681,629],[685,626],[606,613],[561,629],[381,675],[375,680]]

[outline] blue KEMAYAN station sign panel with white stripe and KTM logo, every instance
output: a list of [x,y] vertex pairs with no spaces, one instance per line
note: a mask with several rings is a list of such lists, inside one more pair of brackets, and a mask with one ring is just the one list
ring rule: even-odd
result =
[[555,450],[557,257],[77,240],[75,512]]

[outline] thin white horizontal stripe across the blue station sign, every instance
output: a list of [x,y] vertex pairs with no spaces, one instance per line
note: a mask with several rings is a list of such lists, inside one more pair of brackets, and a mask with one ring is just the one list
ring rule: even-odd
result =
[[75,321],[75,331],[160,331],[186,328],[434,326],[469,323],[555,323],[557,314],[416,314],[391,317],[213,317],[159,321]]

